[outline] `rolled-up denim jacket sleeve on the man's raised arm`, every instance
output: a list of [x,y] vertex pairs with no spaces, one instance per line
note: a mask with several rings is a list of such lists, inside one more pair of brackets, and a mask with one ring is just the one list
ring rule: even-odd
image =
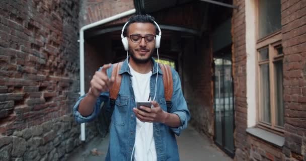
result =
[[[111,67],[112,68],[112,67]],[[111,68],[109,68],[107,70],[107,75],[110,77],[111,75]],[[98,71],[100,71],[102,69],[102,67],[99,68]],[[93,119],[96,118],[96,116],[98,116],[103,104],[106,104],[107,108],[109,108],[109,92],[104,92],[101,93],[100,96],[97,98],[95,107],[94,107],[94,111],[91,115],[89,116],[82,116],[81,113],[79,112],[79,105],[80,102],[87,96],[87,94],[85,94],[84,96],[81,96],[79,98],[79,100],[77,101],[77,103],[75,103],[75,105],[73,106],[72,109],[72,114],[74,116],[75,121],[77,121],[78,123],[84,123],[84,122],[89,122],[92,121]],[[102,104],[103,103],[103,104]]]

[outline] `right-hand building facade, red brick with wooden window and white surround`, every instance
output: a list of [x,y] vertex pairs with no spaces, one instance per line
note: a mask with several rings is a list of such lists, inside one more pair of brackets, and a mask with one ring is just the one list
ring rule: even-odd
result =
[[306,160],[305,1],[234,1],[236,160]]

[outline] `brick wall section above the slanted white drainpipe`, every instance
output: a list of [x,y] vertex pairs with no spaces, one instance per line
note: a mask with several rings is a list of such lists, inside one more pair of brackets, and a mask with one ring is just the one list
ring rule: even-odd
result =
[[134,9],[133,0],[86,0],[82,1],[81,26]]

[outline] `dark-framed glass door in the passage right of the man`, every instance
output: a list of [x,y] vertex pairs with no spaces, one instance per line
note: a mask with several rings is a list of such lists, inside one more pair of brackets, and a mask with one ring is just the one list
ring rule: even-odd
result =
[[231,54],[214,57],[215,143],[234,156],[234,102]]

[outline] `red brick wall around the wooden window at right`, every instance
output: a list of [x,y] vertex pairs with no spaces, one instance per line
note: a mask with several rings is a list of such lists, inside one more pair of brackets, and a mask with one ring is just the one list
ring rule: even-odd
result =
[[306,160],[306,1],[281,1],[284,52],[285,144],[282,148],[247,135],[244,1],[233,13],[235,160]]

